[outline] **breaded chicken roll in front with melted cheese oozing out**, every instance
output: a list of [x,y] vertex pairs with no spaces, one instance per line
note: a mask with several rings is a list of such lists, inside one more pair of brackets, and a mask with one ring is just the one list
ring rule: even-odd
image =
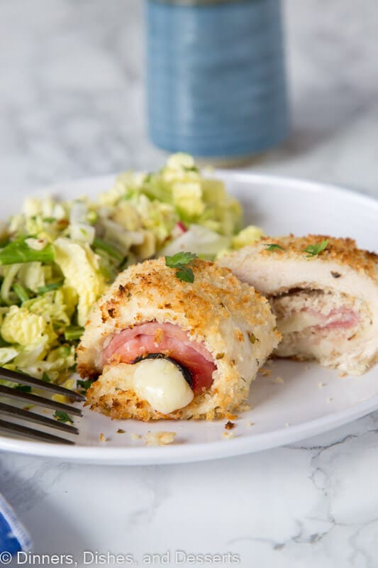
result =
[[228,268],[196,259],[184,281],[165,259],[119,274],[77,351],[92,410],[138,420],[227,417],[279,342],[269,302]]

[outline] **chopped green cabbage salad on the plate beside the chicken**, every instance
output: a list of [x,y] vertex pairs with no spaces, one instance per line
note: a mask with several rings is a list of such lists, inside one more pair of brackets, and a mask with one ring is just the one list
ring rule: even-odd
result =
[[239,202],[183,153],[118,175],[95,201],[28,198],[0,227],[0,366],[73,388],[89,310],[118,272],[179,251],[213,259],[262,235],[241,229]]

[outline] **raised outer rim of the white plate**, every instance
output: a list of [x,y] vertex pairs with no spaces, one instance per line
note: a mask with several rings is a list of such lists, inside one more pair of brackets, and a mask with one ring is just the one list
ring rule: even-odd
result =
[[[101,175],[91,178],[79,178],[68,180],[67,182],[56,182],[51,185],[44,185],[30,191],[35,192],[61,192],[68,187],[79,185],[104,185],[111,184],[118,174]],[[224,170],[215,168],[213,175],[234,182],[250,182],[252,185],[275,185],[277,187],[295,187],[297,190],[311,192],[333,192],[339,197],[348,195],[351,200],[361,202],[365,206],[374,207],[378,210],[378,200],[372,195],[365,195],[339,185],[304,180],[301,178],[290,178],[280,175],[265,175],[252,173],[248,170]],[[23,197],[23,196],[22,196]],[[281,447],[294,442],[308,439],[314,435],[320,435],[334,430],[340,426],[348,424],[360,417],[363,417],[374,410],[378,410],[378,394],[356,403],[349,408],[329,413],[322,417],[314,418],[301,422],[298,425],[290,425],[279,430],[260,432],[255,435],[238,437],[232,439],[221,439],[213,442],[191,442],[189,444],[172,444],[160,447],[106,447],[100,445],[80,445],[67,446],[65,444],[48,444],[46,442],[32,442],[28,439],[18,439],[16,437],[6,437],[0,435],[0,452],[11,452],[13,454],[33,455],[35,457],[48,457],[51,459],[63,459],[66,461],[88,464],[103,465],[148,465],[148,464],[175,464],[195,461],[207,461],[209,459],[221,459],[223,457],[234,457],[237,455],[260,452],[264,449]],[[170,422],[169,422],[170,423]]]

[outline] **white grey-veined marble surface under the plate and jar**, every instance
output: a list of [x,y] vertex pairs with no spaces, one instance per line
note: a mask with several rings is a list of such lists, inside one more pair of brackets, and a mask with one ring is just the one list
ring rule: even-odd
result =
[[[294,129],[250,168],[378,196],[377,2],[287,0],[285,15]],[[0,1],[3,200],[162,163],[145,134],[141,26],[138,0]],[[78,566],[84,550],[140,565],[170,550],[171,566],[184,550],[233,552],[248,568],[373,568],[377,432],[373,413],[290,447],[175,466],[1,454],[0,490],[35,552],[72,554]]]

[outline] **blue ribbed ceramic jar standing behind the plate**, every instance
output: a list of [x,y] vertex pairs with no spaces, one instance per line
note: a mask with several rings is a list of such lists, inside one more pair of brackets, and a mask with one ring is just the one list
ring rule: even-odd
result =
[[146,33],[157,146],[232,159],[287,136],[279,0],[147,0]]

